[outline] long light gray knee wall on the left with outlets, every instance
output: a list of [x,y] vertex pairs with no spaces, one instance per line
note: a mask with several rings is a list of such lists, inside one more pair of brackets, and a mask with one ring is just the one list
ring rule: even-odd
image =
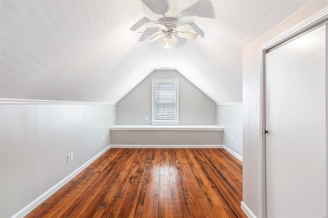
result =
[[[106,148],[115,124],[115,105],[0,106],[1,217],[12,216]],[[67,163],[72,151],[74,160]]]

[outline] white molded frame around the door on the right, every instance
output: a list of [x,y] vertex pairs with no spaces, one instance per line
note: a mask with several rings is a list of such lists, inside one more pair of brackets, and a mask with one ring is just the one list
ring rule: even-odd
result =
[[[267,217],[266,181],[265,181],[265,54],[275,47],[293,40],[295,37],[328,23],[328,7],[303,20],[293,28],[283,32],[276,38],[260,47],[260,96],[259,96],[259,217]],[[328,198],[328,193],[327,193]]]

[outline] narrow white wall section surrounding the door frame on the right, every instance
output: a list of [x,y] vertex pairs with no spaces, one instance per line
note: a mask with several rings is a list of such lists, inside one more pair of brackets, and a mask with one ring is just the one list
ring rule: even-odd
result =
[[259,217],[259,48],[328,6],[310,1],[243,50],[243,203]]

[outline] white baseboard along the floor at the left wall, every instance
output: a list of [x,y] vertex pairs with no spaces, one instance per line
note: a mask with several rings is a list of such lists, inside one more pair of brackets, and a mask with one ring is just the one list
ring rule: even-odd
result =
[[97,158],[99,158],[101,155],[103,155],[107,150],[109,150],[111,146],[107,146],[105,149],[101,150],[97,155],[95,155],[93,158],[91,158],[89,161],[87,161],[85,164],[77,168],[75,171],[73,171],[70,175],[65,177],[63,180],[58,182],[56,185],[51,187],[48,191],[41,194],[39,197],[37,197],[34,201],[32,201],[30,204],[25,206],[23,209],[19,210],[17,213],[15,213],[12,217],[24,217],[27,214],[29,214],[32,210],[34,210],[37,206],[39,206],[42,202],[46,201],[52,194],[54,194],[56,191],[58,191],[61,187],[66,185],[70,180],[72,180],[78,173],[83,171],[85,168],[87,168],[92,162],[94,162]]

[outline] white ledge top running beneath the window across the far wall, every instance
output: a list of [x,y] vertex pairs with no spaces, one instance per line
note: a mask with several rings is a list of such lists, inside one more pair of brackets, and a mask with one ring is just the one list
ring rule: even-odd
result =
[[110,131],[223,131],[224,128],[218,125],[115,125],[110,127]]

